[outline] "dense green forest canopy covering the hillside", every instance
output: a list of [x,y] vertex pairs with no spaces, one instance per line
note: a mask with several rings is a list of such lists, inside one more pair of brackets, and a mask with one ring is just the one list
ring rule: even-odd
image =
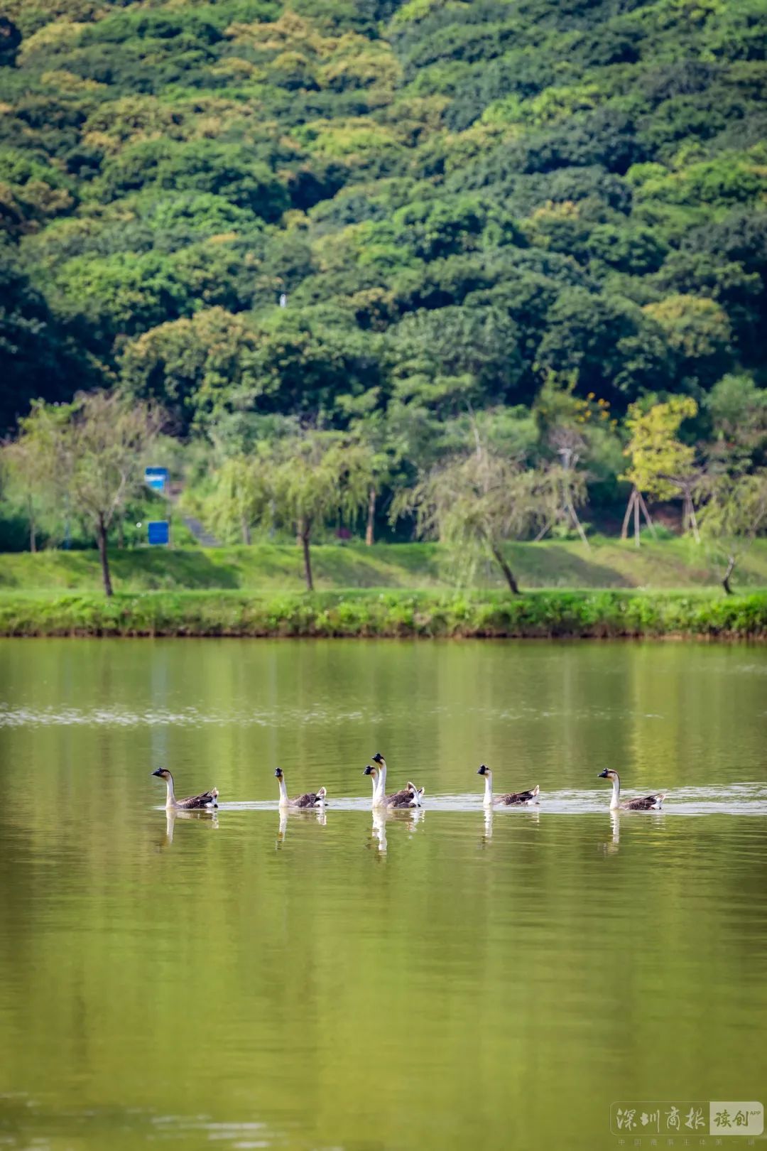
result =
[[187,434],[764,367],[764,0],[6,13],[6,428],[118,381]]

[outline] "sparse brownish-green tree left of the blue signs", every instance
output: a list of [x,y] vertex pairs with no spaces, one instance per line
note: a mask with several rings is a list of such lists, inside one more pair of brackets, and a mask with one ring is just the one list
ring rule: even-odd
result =
[[21,421],[20,452],[33,462],[46,500],[93,532],[103,590],[113,594],[107,534],[144,482],[162,425],[160,410],[120,392],[80,392],[71,404],[36,404]]

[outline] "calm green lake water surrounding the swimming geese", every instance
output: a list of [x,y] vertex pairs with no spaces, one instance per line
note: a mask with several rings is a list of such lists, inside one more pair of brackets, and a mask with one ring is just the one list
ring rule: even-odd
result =
[[[377,749],[422,814],[374,823]],[[0,1146],[612,1148],[614,1100],[767,1102],[766,752],[765,648],[0,641]],[[483,760],[539,809],[488,822]],[[169,825],[161,763],[217,818]],[[324,822],[281,829],[277,764]],[[611,820],[605,765],[666,810]]]

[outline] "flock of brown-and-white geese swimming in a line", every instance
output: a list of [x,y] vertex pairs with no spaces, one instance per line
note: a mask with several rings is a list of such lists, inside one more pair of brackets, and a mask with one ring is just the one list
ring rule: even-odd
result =
[[[374,811],[422,806],[424,788],[417,787],[414,783],[408,782],[401,791],[391,792],[389,795],[386,794],[386,761],[381,752],[376,752],[371,762],[368,763],[362,773],[373,777],[371,807]],[[202,792],[200,795],[190,795],[189,799],[176,799],[174,777],[167,768],[158,768],[158,770],[153,771],[152,775],[159,776],[166,782],[168,790],[166,808],[168,811],[213,810],[218,807],[217,787],[214,787],[209,792]],[[505,795],[493,795],[492,771],[490,768],[483,763],[477,770],[477,775],[484,777],[485,787],[483,803],[485,808],[531,807],[539,802],[540,788],[537,785],[530,791],[508,792]],[[310,808],[324,810],[328,799],[327,787],[320,787],[316,792],[306,792],[304,795],[297,795],[294,799],[290,799],[285,775],[281,768],[277,768],[275,776],[277,777],[279,786],[281,811],[287,811],[291,809],[308,810]],[[609,779],[613,784],[613,792],[609,800],[611,811],[659,811],[664,800],[666,799],[666,792],[657,792],[652,795],[641,795],[637,799],[627,799],[621,801],[621,777],[618,771],[613,771],[611,768],[605,768],[604,771],[599,772],[598,778]]]

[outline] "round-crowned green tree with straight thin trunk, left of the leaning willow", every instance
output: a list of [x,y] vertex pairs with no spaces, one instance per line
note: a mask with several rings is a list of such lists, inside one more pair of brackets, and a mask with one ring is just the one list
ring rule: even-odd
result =
[[296,532],[304,577],[314,590],[312,539],[329,519],[355,519],[367,505],[374,464],[363,444],[333,432],[302,432],[276,445],[271,473],[274,517]]

